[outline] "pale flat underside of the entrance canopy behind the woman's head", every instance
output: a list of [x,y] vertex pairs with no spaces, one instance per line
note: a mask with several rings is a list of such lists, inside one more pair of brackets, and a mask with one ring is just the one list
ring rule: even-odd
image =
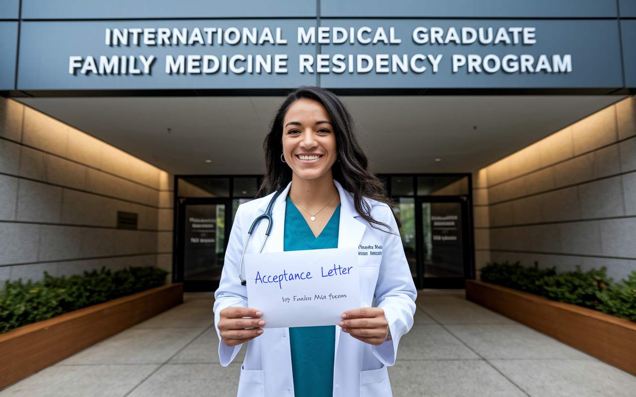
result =
[[[377,173],[436,173],[478,170],[623,96],[344,98]],[[263,138],[282,101],[282,97],[17,99],[181,175],[262,173]]]

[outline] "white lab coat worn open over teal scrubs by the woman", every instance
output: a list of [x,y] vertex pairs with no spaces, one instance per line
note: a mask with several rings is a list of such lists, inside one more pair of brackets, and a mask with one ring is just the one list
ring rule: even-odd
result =
[[[395,234],[371,227],[356,212],[352,195],[338,182],[334,182],[341,203],[338,248],[358,248],[362,307],[377,306],[384,309],[393,339],[380,346],[372,346],[342,332],[340,326],[336,325],[333,397],[391,396],[387,366],[395,363],[399,340],[413,325],[417,292],[391,208],[377,201],[368,201],[373,207],[373,219],[390,225]],[[273,206],[272,232],[263,252],[284,250],[285,201],[290,186],[291,183]],[[217,333],[221,310],[226,307],[247,307],[247,288],[240,285],[239,279],[240,256],[252,221],[265,212],[272,196],[273,193],[239,206],[228,241],[221,282],[214,294],[214,324]],[[266,220],[260,222],[245,253],[258,252],[266,226]],[[374,252],[381,251],[382,255],[370,255],[369,246],[373,246]],[[239,353],[242,345],[226,346],[220,335],[219,340],[219,358],[221,365],[226,366]],[[259,337],[247,344],[247,353],[240,371],[238,395],[294,396],[289,328],[265,328]]]

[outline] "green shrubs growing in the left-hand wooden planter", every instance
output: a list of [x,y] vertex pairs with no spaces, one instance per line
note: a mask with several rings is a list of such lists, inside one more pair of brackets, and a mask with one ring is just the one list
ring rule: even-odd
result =
[[156,267],[130,267],[83,276],[52,277],[33,283],[5,281],[0,291],[0,333],[69,311],[107,302],[165,284],[168,273]]

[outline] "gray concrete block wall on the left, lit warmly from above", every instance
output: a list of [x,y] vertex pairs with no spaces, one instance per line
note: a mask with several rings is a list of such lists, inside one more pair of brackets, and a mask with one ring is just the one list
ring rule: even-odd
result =
[[170,175],[0,97],[0,282],[148,265],[172,271]]

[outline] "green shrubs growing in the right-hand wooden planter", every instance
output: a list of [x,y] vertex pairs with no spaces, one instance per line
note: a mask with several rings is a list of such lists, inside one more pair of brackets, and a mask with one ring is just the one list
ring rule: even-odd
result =
[[614,283],[605,267],[583,272],[556,273],[554,267],[539,269],[494,262],[481,269],[481,281],[534,293],[552,300],[596,309],[627,320],[636,321],[636,271],[627,280]]

